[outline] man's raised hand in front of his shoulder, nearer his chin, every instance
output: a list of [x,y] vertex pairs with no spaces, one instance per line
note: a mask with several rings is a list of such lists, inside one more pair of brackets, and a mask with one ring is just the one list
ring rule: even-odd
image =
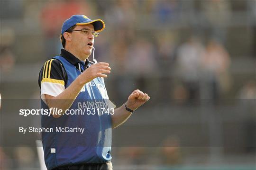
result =
[[79,78],[82,80],[82,82],[85,84],[87,82],[92,81],[96,77],[108,77],[110,73],[111,68],[109,67],[109,63],[96,63],[91,65],[88,69],[86,69],[82,74],[79,76]]

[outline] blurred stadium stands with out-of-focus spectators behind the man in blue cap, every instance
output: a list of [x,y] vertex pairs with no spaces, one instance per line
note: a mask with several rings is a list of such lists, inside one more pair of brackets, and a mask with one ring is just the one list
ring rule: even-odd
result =
[[[74,14],[106,24],[94,47],[112,69],[112,102],[134,89],[151,97],[113,130],[115,170],[256,169],[255,0],[0,0],[3,101],[40,98],[39,71]],[[9,120],[1,141],[18,140],[17,113]],[[3,170],[40,169],[35,146],[2,143],[0,159]]]

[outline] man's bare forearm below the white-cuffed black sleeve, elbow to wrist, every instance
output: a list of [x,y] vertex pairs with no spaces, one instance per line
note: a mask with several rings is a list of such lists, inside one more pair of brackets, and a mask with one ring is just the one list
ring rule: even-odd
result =
[[77,79],[73,81],[73,83],[58,96],[50,97],[48,95],[48,97],[46,98],[48,107],[55,107],[58,108],[58,110],[62,109],[60,115],[53,115],[55,118],[62,116],[64,111],[71,107],[74,99],[77,97],[84,84],[85,82],[81,81],[81,77],[77,77]]

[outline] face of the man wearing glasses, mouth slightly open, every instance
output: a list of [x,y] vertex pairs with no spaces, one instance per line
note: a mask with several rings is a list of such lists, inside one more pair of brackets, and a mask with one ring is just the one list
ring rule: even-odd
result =
[[[86,29],[90,31],[94,31],[94,27],[92,24],[88,25],[77,25],[73,30]],[[92,46],[94,44],[94,37],[89,32],[86,34],[82,31],[73,31],[72,35],[72,48],[75,49],[75,52],[80,56],[88,57],[91,54]],[[85,59],[86,59],[85,58]]]

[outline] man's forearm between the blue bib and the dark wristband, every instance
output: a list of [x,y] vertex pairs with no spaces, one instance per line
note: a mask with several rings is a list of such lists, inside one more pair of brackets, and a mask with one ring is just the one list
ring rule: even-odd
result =
[[112,128],[116,128],[117,126],[123,124],[131,116],[131,114],[131,112],[125,109],[125,104],[119,108],[116,108],[114,110],[114,114],[111,115]]

